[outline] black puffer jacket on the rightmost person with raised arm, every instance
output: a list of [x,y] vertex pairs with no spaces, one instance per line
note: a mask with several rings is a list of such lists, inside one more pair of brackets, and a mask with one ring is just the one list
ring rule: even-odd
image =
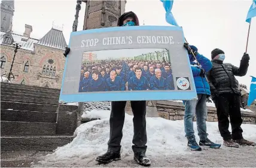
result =
[[[240,95],[239,83],[234,76],[246,75],[248,66],[249,60],[245,59],[241,60],[239,68],[220,60],[212,60],[212,69],[207,73],[211,93],[218,91],[219,94],[236,93]],[[212,98],[214,99],[214,97]]]

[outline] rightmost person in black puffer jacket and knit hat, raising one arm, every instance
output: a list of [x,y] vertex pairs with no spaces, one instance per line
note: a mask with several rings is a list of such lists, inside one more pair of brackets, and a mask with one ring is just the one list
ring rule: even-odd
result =
[[[212,69],[207,77],[211,87],[212,100],[217,108],[218,127],[224,140],[224,145],[238,148],[240,145],[255,145],[254,142],[243,139],[242,128],[243,120],[240,111],[240,90],[239,83],[234,77],[246,75],[249,66],[249,55],[243,54],[240,67],[223,63],[225,53],[218,48],[212,50]],[[230,123],[232,134],[228,130]],[[239,144],[237,144],[239,143]]]

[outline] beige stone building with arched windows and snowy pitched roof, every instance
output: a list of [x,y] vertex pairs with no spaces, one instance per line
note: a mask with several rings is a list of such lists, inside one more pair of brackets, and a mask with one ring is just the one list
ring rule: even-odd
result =
[[[13,43],[19,43],[13,63],[13,83],[60,88],[66,44],[62,30],[51,28],[41,39],[32,38],[32,26],[25,25],[23,35],[13,33],[14,1],[1,2],[1,75],[10,71]],[[4,76],[3,76],[4,77]]]

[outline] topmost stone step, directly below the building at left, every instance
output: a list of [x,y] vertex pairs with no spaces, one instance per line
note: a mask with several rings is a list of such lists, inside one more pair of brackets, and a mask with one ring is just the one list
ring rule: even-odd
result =
[[46,88],[46,87],[38,87],[35,85],[23,85],[23,84],[12,84],[12,83],[1,83],[1,87],[5,87],[5,88],[22,88],[22,89],[28,89],[28,90],[40,90],[40,91],[51,91],[51,92],[56,92],[56,93],[60,93],[60,89],[57,88]]

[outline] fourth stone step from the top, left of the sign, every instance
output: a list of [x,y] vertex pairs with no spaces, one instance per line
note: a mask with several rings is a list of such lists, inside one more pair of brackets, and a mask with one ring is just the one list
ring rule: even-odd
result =
[[46,105],[41,103],[11,102],[1,100],[1,110],[14,109],[23,111],[56,112],[58,105]]

